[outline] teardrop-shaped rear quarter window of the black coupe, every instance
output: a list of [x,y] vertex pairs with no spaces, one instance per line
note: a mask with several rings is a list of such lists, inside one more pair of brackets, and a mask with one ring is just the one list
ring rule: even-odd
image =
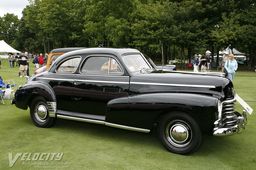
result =
[[57,72],[60,73],[74,73],[79,65],[81,58],[70,58],[58,66]]

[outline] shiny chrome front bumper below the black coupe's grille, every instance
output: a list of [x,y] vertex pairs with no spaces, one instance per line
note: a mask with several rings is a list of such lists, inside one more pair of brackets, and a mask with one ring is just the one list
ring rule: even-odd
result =
[[[230,120],[230,121],[227,121]],[[236,124],[234,125],[234,122]],[[242,133],[247,124],[246,111],[243,111],[241,116],[232,115],[226,116],[224,119],[215,121],[213,135],[215,136],[231,136],[236,133]]]

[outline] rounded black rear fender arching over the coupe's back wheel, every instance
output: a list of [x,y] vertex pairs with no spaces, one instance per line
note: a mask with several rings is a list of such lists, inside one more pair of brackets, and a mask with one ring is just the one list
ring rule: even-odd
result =
[[26,83],[15,92],[15,106],[26,110],[33,96],[43,96],[47,101],[56,102],[56,96],[51,86],[44,82]]

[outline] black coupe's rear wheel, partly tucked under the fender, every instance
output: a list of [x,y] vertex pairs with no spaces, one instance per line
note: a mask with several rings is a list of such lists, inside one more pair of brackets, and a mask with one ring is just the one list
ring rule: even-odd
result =
[[49,116],[47,102],[42,96],[37,96],[32,100],[30,105],[30,116],[37,127],[51,127],[55,124],[57,119]]

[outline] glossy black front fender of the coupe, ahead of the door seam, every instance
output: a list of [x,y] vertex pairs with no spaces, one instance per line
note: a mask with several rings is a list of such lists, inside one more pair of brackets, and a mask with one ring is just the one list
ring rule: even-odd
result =
[[172,111],[188,113],[209,133],[218,117],[218,99],[213,96],[186,93],[152,93],[128,96],[129,125],[151,130],[157,118]]

